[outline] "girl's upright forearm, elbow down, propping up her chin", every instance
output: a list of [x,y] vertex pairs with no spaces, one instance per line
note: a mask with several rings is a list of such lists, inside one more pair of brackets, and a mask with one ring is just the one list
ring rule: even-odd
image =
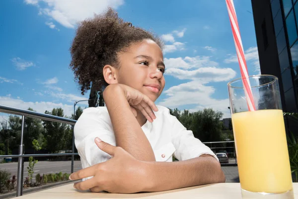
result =
[[[124,88],[127,87],[113,84],[109,85],[103,92],[103,98],[115,133],[116,146],[122,147],[138,160],[155,161],[155,156],[149,140],[132,112],[127,99],[127,91],[124,90]],[[135,95],[132,94],[132,91],[139,95],[137,90],[131,90],[131,97]],[[149,103],[151,106],[155,106],[151,100],[149,101],[149,98],[146,98],[147,96],[140,95],[140,97],[142,97],[140,98],[140,104],[142,103],[144,105]],[[147,108],[150,108],[152,111],[150,105],[148,105]],[[155,108],[157,109],[156,106]],[[150,111],[148,112],[150,114]],[[153,111],[151,114],[152,113]]]

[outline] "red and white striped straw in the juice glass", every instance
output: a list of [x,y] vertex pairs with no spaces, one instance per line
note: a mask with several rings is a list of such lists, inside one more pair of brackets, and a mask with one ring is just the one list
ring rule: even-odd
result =
[[243,51],[242,41],[240,37],[240,31],[239,31],[234,3],[233,3],[233,0],[225,0],[225,2],[226,2],[228,16],[232,27],[232,32],[233,32],[238,62],[240,65],[241,78],[242,78],[244,93],[246,96],[248,110],[254,111],[255,104],[252,97],[252,91],[251,91],[251,86],[249,82],[248,71],[247,71],[246,61],[244,57],[244,51]]

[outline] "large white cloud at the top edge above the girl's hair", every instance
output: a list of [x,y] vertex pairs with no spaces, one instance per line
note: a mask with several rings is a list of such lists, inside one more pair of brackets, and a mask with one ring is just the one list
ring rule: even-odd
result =
[[39,15],[44,14],[67,28],[74,28],[77,21],[100,14],[107,7],[117,8],[124,0],[25,0],[38,7]]

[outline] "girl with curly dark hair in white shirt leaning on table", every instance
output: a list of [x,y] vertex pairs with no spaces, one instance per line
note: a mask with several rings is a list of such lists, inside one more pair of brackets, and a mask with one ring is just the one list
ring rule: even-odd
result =
[[105,88],[106,107],[84,109],[74,126],[83,169],[70,179],[84,179],[74,188],[158,192],[225,181],[210,148],[154,104],[165,85],[161,49],[157,36],[111,8],[79,23],[70,66],[82,94],[91,83]]

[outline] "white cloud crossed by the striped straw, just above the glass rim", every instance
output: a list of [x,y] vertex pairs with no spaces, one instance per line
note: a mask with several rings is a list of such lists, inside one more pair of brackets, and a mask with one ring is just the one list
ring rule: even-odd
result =
[[[255,67],[254,72],[258,72],[258,75],[261,72],[260,69],[260,62],[259,62],[259,54],[258,54],[258,47],[250,47],[246,51],[244,51],[244,56],[246,62],[251,61],[251,64]],[[237,55],[229,55],[227,59],[224,60],[225,63],[238,63]],[[247,63],[247,67],[249,64]]]

